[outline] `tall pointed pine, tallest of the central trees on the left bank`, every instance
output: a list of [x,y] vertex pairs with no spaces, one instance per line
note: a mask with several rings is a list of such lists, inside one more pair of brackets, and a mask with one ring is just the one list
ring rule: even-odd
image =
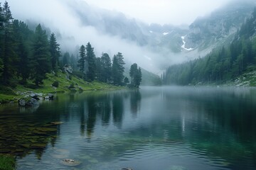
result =
[[92,47],[92,45],[90,45],[90,42],[88,42],[86,45],[86,60],[88,64],[87,79],[90,81],[94,81],[96,76],[96,57],[93,49],[94,48]]

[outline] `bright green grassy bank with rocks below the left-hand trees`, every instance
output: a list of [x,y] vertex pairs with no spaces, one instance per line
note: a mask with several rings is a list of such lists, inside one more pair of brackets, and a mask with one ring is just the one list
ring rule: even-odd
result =
[[[58,81],[58,87],[52,84]],[[117,90],[124,89],[123,86],[113,86],[99,81],[84,81],[71,74],[58,72],[58,74],[47,74],[47,79],[43,80],[43,85],[35,86],[32,81],[27,81],[25,85],[16,84],[11,86],[0,87],[0,103],[15,103],[24,93],[33,91],[38,94],[55,94],[69,91],[97,91],[97,90]]]

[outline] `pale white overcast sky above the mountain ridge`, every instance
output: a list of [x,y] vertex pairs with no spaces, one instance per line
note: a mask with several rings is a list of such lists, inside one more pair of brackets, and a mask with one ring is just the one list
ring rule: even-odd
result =
[[84,0],[88,4],[121,11],[146,23],[190,24],[232,0]]

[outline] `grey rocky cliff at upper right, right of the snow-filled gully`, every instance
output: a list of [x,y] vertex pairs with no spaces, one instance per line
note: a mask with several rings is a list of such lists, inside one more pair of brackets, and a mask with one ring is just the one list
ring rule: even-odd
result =
[[185,39],[187,47],[201,51],[230,42],[255,5],[254,1],[237,1],[214,11],[210,16],[198,18],[189,26]]

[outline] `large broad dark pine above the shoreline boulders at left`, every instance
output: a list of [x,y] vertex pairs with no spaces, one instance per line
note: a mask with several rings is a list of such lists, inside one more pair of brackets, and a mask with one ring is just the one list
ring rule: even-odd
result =
[[43,79],[46,78],[46,73],[50,72],[51,63],[46,30],[43,30],[40,24],[36,27],[32,49],[32,77],[36,86],[39,86],[39,84],[43,84]]

